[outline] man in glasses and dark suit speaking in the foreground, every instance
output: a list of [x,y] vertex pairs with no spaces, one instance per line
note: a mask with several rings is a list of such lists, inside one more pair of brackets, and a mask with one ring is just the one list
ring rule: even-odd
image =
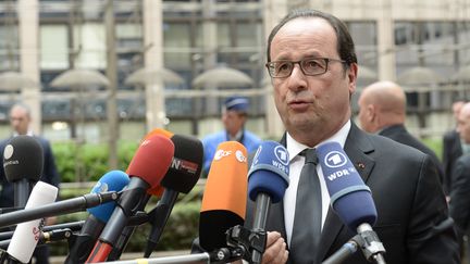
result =
[[[453,221],[429,155],[361,131],[350,121],[349,101],[356,89],[358,64],[346,26],[319,11],[289,13],[269,36],[267,67],[277,112],[286,127],[282,142],[290,156],[290,183],[284,199],[271,206],[262,263],[321,263],[355,235],[332,212],[318,165],[321,212],[295,210],[305,161],[298,154],[325,141],[343,146],[370,187],[379,214],[374,230],[387,251],[387,263],[458,263]],[[295,229],[311,228],[294,223],[309,213],[322,216],[318,248],[310,244],[313,238],[292,247]],[[252,217],[253,202],[249,202],[248,227]],[[300,250],[302,246],[307,247]],[[308,260],[300,262],[299,257]],[[345,263],[368,261],[358,252]]]

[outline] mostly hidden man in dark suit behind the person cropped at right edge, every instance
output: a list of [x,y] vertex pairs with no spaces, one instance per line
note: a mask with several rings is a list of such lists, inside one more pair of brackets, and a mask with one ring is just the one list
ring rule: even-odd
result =
[[[453,103],[453,113],[456,121],[463,104],[463,101],[456,101]],[[444,134],[443,137],[444,190],[446,193],[450,193],[455,162],[461,155],[462,142],[460,141],[460,135],[457,129],[454,128]]]

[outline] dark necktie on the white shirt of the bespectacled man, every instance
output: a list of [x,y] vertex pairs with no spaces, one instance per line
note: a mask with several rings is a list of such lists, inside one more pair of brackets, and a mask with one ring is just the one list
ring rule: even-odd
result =
[[321,235],[322,202],[317,174],[316,149],[300,152],[306,162],[297,187],[296,211],[290,238],[290,259],[295,264],[316,263]]

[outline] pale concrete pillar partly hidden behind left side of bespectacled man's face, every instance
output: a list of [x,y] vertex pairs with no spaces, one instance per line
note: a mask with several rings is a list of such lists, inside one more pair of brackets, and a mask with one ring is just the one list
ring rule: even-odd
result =
[[[263,23],[264,23],[264,39],[265,43],[268,43],[268,37],[271,33],[271,29],[284,17],[287,10],[288,0],[264,0],[263,1]],[[267,48],[267,45],[264,46]],[[265,53],[264,53],[265,54]],[[264,61],[267,58],[264,55]],[[265,81],[263,81],[263,86],[265,89],[272,91],[273,86],[271,84],[271,77],[268,72],[264,71]],[[269,138],[279,138],[284,133],[284,124],[281,121],[281,117],[277,114],[277,110],[274,104],[274,95],[273,92],[268,92],[265,95],[265,120],[267,120],[267,137]]]

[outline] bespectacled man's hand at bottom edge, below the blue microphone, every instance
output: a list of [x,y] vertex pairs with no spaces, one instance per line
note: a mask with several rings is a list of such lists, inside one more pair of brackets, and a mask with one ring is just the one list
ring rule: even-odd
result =
[[261,263],[286,263],[288,257],[288,251],[286,247],[286,242],[284,241],[284,238],[281,237],[281,234],[276,231],[269,231],[267,248]]

